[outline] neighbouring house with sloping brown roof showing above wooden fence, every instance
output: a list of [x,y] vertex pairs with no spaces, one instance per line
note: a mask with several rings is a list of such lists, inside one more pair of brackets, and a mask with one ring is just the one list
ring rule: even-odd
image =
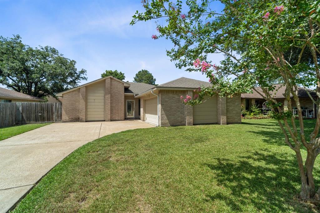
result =
[[44,99],[0,87],[0,103],[39,101],[44,101]]

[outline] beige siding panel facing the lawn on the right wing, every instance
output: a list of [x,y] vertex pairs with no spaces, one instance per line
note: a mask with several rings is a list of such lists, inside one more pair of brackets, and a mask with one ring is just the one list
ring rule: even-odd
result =
[[193,106],[193,124],[217,122],[217,96],[208,98],[204,97],[204,103]]

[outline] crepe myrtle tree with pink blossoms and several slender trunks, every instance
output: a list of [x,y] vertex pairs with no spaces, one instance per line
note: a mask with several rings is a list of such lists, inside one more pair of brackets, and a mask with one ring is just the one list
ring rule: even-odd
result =
[[[219,2],[224,6],[221,12],[215,11],[214,2],[209,0],[142,1],[145,11],[137,11],[131,24],[156,20],[158,32],[151,38],[171,40],[174,48],[167,55],[176,66],[200,72],[212,83],[211,87],[195,90],[195,97],[181,96],[183,103],[200,104],[205,95],[213,96],[216,91],[232,97],[253,89],[263,96],[283,131],[284,142],[296,154],[301,199],[319,199],[313,167],[320,153],[320,1]],[[225,56],[219,66],[208,60],[217,53]],[[273,98],[275,81],[283,82],[288,106]],[[305,134],[298,85],[316,88],[318,96],[308,94],[318,106],[310,135]],[[298,109],[299,125],[292,114],[293,103]],[[303,146],[307,150],[305,159]]]

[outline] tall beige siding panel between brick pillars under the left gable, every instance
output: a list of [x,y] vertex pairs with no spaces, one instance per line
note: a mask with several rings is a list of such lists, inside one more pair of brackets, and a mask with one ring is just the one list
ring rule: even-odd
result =
[[105,82],[91,84],[86,87],[87,121],[103,121]]

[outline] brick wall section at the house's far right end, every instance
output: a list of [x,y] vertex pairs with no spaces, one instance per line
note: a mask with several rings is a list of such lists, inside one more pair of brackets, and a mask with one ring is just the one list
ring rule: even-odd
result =
[[226,98],[227,103],[227,124],[241,123],[241,97],[240,94],[232,98]]

